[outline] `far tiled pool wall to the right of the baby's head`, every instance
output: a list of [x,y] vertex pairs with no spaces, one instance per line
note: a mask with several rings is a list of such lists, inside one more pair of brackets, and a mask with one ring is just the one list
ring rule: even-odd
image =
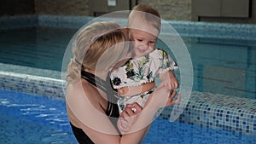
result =
[[[225,37],[233,39],[253,39],[256,26],[252,24],[230,24],[191,21],[169,21],[180,34],[195,37]],[[164,31],[163,31],[164,32]]]

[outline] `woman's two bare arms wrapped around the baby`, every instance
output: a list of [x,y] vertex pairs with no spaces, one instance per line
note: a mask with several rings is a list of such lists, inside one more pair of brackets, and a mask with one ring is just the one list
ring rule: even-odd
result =
[[[82,84],[73,86],[70,84],[67,87],[67,107],[70,109],[70,116],[76,121],[76,126],[79,126],[96,144],[137,144],[143,141],[144,135],[147,134],[150,124],[154,118],[154,114],[160,107],[166,105],[173,105],[177,101],[172,101],[173,96],[170,96],[170,91],[165,87],[155,89],[150,95],[146,107],[143,111],[132,105],[127,108],[127,112],[131,117],[138,117],[132,124],[131,129],[120,136],[108,116],[105,114],[104,109],[95,100],[96,93],[90,92],[90,89],[84,89]],[[90,95],[90,96],[89,96]],[[159,98],[161,96],[161,98]],[[152,101],[152,102],[151,102]],[[137,108],[137,113],[133,113],[131,108]]]

